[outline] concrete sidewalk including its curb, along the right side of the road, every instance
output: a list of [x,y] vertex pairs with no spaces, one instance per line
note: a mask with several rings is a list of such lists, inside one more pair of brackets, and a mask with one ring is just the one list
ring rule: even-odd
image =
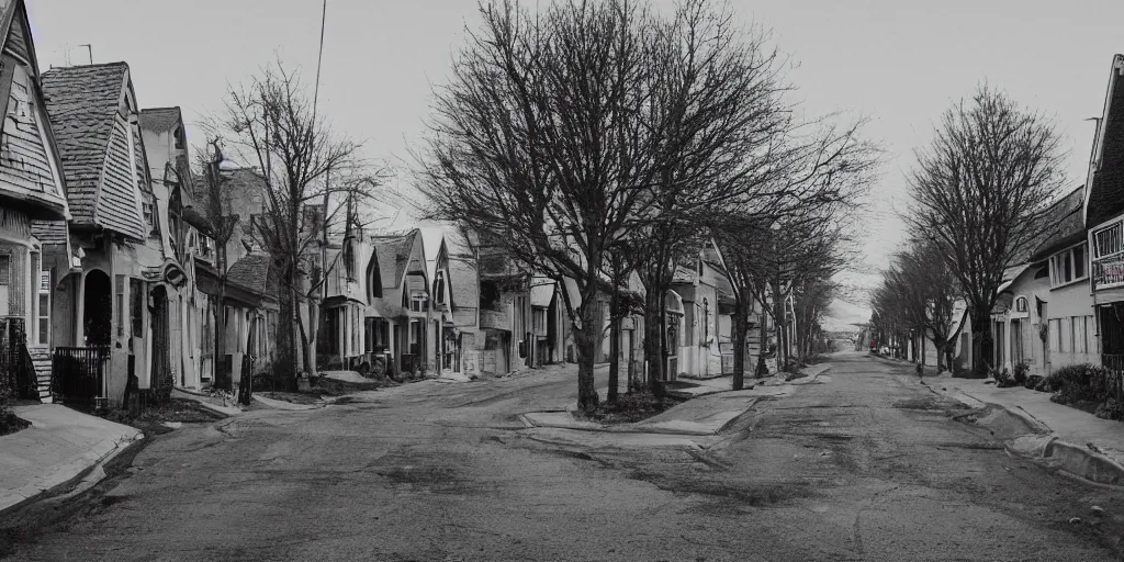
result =
[[970,407],[998,407],[1019,418],[1026,434],[1008,439],[1012,453],[1046,461],[1094,482],[1124,484],[1124,423],[1051,402],[1050,392],[996,388],[985,379],[926,377],[924,383]]

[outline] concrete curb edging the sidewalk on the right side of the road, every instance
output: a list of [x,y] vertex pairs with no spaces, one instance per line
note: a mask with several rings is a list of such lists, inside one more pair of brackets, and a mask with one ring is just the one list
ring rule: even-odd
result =
[[975,408],[976,406],[961,398],[967,397],[984,404],[987,408],[994,408],[1013,416],[1028,427],[1040,430],[1040,433],[1031,433],[1004,441],[1004,448],[1012,455],[1055,466],[1073,477],[1097,484],[1124,486],[1124,465],[1106,455],[1090,451],[1088,447],[1062,441],[1046,424],[1022,408],[1008,408],[1000,404],[980,400],[959,389],[955,393],[945,395],[928,384],[924,384],[924,387],[933,393],[952,398]]

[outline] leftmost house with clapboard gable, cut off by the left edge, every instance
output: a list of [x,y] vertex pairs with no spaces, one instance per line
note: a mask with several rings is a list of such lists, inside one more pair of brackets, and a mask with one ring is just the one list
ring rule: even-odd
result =
[[0,384],[49,401],[53,293],[74,265],[71,214],[22,0],[0,10]]

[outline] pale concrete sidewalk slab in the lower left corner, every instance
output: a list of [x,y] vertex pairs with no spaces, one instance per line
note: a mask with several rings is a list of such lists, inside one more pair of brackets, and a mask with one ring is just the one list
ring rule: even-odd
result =
[[12,411],[31,427],[0,437],[0,511],[73,480],[144,436],[60,405]]

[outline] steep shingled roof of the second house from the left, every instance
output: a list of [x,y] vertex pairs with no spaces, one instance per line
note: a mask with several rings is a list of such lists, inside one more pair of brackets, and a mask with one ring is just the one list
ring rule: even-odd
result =
[[[145,239],[135,192],[138,178],[117,170],[129,165],[126,158],[145,158],[138,135],[133,135],[138,154],[120,154],[128,145],[121,137],[133,134],[118,119],[123,97],[132,99],[128,75],[124,62],[52,69],[43,73],[43,91],[74,223]],[[109,157],[114,155],[118,157]],[[138,169],[147,174],[146,163]],[[114,181],[107,181],[107,173]]]

